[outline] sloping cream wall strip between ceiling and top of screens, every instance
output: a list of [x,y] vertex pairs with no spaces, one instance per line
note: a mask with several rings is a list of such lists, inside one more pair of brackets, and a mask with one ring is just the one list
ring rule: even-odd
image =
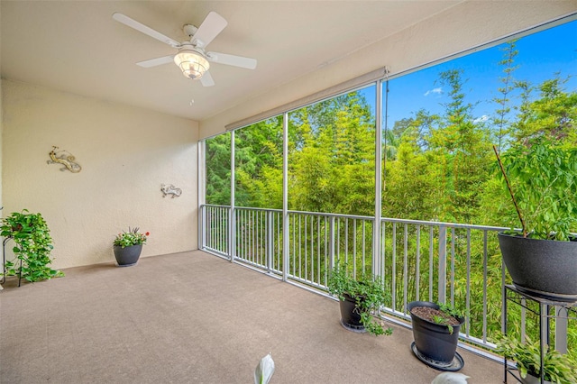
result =
[[577,10],[577,0],[466,1],[410,28],[200,122],[201,139],[224,126],[388,66],[391,76]]

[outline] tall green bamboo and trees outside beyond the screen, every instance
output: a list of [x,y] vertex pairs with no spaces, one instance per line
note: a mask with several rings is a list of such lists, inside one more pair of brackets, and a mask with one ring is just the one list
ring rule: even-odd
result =
[[[517,53],[515,41],[503,47],[499,61],[502,76],[499,79],[486,79],[487,84],[499,80],[496,92],[488,96],[490,100],[472,100],[465,73],[455,65],[456,69],[438,74],[437,81],[443,88],[439,100],[444,106],[440,113],[433,114],[422,109],[416,101],[415,105],[410,105],[416,112],[396,122],[389,122],[388,126],[392,125],[392,128],[383,132],[381,143],[386,155],[382,178],[383,217],[518,226],[510,198],[501,180],[494,177],[495,160],[491,144],[499,145],[499,153],[506,153],[512,148],[526,151],[528,142],[545,137],[563,151],[574,150],[577,148],[577,92],[563,89],[567,79],[559,74],[537,85],[515,78]],[[477,76],[477,73],[467,76]],[[405,92],[401,87],[395,88],[395,81],[392,79],[389,82],[393,97],[395,92]],[[483,116],[486,120],[475,115],[478,113],[475,105],[483,106],[485,103],[490,103],[493,109],[492,114]],[[383,114],[388,112],[384,111]],[[367,103],[359,92],[335,96],[289,112],[289,210],[375,215],[374,120],[371,103]],[[231,134],[222,136],[206,142],[206,201],[228,206]],[[281,138],[282,120],[279,116],[235,132],[235,145],[238,145],[234,169],[237,206],[282,206]],[[572,161],[572,164],[575,163]],[[540,172],[539,168],[535,168],[535,172]],[[574,214],[576,196],[572,191],[565,193],[563,198],[557,198],[556,209],[567,208],[560,208],[559,204],[571,205],[572,216],[577,217]],[[554,215],[557,216],[557,213]],[[293,244],[289,250],[289,267],[298,279],[311,279],[313,270],[315,273],[320,271],[321,275],[328,273],[324,256],[328,245],[322,241],[317,243],[319,239],[322,240],[322,233],[329,229],[327,223],[321,221],[317,224],[315,221],[313,226],[312,220],[309,221],[307,241],[310,245],[304,237],[298,238],[299,233],[289,234],[290,243]],[[251,225],[256,226],[257,223]],[[251,228],[251,225],[245,224],[244,230]],[[292,230],[295,226],[300,228],[301,223],[289,225]],[[577,231],[577,225],[567,225],[572,227],[573,232]],[[384,261],[382,265],[386,267],[383,279],[386,279],[384,284],[391,288],[391,292],[395,289],[396,300],[392,303],[390,298],[387,306],[401,308],[405,297],[416,299],[429,296],[433,300],[437,295],[439,276],[429,274],[429,268],[436,270],[439,266],[438,231],[434,229],[428,233],[428,228],[425,231],[426,226],[422,225],[417,242],[415,232],[418,225],[408,224],[405,252],[401,226],[397,226],[395,239],[391,238],[392,225],[386,224],[385,227],[389,237],[381,243],[383,254],[380,256]],[[341,228],[337,232],[340,241],[336,246],[343,250],[343,239],[347,238],[351,243],[356,239],[356,246],[360,247],[361,230],[357,231],[353,233],[350,229],[350,233],[345,234]],[[367,228],[367,233],[371,231],[372,228]],[[558,232],[559,229],[554,231]],[[492,336],[499,332],[501,316],[503,272],[499,243],[496,234],[489,232],[484,249],[483,233],[472,231],[469,250],[466,242],[468,235],[459,228],[455,228],[454,236],[447,233],[447,243],[454,246],[451,256],[454,285],[447,283],[446,288],[447,292],[452,292],[451,300],[455,303],[465,303],[465,298],[469,299],[467,306],[471,310],[467,316],[470,319],[470,334],[483,334],[482,321],[486,313],[486,331]],[[362,245],[367,250],[371,249],[370,236],[365,238]],[[275,244],[275,247],[276,250],[282,248],[281,244]],[[350,252],[348,255],[351,256],[352,245],[349,243],[348,247],[345,253]],[[392,255],[393,249],[395,256]],[[308,254],[317,253],[320,256],[300,263],[299,252],[307,254],[307,250]],[[258,254],[254,249],[251,252]],[[371,256],[367,258],[370,260]],[[317,280],[323,284],[325,277]],[[520,319],[520,315],[516,316],[516,319]],[[570,324],[569,328],[569,343],[575,343],[577,333],[572,329],[575,327]]]

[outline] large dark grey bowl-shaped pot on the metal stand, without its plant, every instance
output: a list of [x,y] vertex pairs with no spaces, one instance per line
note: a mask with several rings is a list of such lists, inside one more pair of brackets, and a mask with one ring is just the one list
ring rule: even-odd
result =
[[577,241],[499,233],[499,247],[517,289],[537,297],[577,301]]

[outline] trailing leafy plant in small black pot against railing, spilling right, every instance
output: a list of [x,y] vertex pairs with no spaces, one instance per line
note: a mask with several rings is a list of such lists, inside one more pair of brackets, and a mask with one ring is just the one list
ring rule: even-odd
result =
[[382,279],[359,271],[354,273],[347,264],[341,263],[331,271],[327,286],[329,292],[339,298],[341,325],[345,329],[374,335],[392,334],[392,328],[385,329],[372,315],[388,298]]

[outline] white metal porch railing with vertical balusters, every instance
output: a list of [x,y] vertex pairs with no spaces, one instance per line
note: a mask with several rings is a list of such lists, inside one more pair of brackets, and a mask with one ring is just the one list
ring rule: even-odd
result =
[[[413,300],[450,303],[466,311],[462,339],[494,349],[490,339],[501,331],[507,278],[497,233],[507,228],[382,218],[380,254],[373,260],[373,217],[289,211],[284,231],[281,210],[234,207],[232,231],[232,211],[201,206],[201,249],[324,293],[329,271],[347,261],[355,273],[383,278],[390,292],[381,308],[386,317],[408,320]],[[517,317],[525,328],[526,314]]]

